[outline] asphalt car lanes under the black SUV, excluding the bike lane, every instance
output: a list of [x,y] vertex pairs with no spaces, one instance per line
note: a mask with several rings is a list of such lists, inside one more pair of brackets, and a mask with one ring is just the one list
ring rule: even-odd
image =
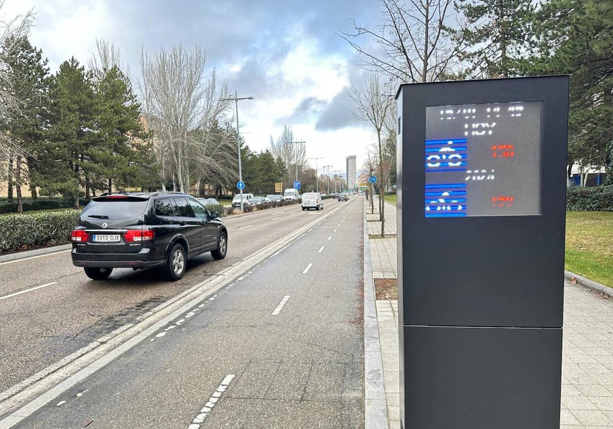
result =
[[[207,252],[188,263],[177,282],[159,269],[113,270],[107,281],[92,281],[74,267],[70,252],[0,264],[0,392],[131,323],[159,303],[312,221],[324,212],[299,205],[227,219],[226,259]],[[303,215],[304,214],[304,215]],[[274,220],[273,220],[274,219]],[[13,297],[6,295],[53,283]]]

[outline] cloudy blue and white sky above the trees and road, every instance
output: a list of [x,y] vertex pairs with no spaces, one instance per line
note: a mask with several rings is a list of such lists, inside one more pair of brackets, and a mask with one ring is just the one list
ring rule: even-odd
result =
[[350,154],[362,167],[374,137],[352,118],[345,87],[350,79],[362,82],[364,72],[335,32],[349,31],[349,18],[378,25],[375,0],[7,0],[2,12],[31,8],[31,41],[51,71],[70,56],[86,63],[96,37],[114,40],[135,76],[142,47],[153,53],[173,44],[200,45],[208,51],[208,69],[215,67],[231,91],[255,97],[239,104],[251,148],[265,149],[269,136],[289,124],[307,142],[309,157],[324,158],[320,167],[332,164],[344,173]]

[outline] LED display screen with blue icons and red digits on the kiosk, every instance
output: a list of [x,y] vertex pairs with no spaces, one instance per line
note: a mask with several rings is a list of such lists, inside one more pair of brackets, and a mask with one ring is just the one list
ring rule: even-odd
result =
[[425,216],[541,214],[539,101],[426,107]]

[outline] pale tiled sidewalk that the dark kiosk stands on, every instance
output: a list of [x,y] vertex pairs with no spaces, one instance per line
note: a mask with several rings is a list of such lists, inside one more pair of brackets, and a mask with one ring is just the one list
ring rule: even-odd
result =
[[[389,206],[386,206],[386,223]],[[395,210],[389,212],[394,213],[395,222]],[[377,241],[389,243],[378,246]],[[395,277],[395,238],[371,239],[370,245],[373,276]],[[375,261],[379,261],[379,265],[376,266]],[[613,428],[612,301],[565,281],[561,429]],[[400,427],[398,302],[377,300],[376,310],[388,423],[390,429],[395,429]]]

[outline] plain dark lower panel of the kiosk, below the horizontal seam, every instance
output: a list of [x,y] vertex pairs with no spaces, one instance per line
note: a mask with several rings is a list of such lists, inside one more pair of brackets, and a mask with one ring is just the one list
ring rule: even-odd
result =
[[560,427],[561,328],[404,326],[400,335],[403,428]]

